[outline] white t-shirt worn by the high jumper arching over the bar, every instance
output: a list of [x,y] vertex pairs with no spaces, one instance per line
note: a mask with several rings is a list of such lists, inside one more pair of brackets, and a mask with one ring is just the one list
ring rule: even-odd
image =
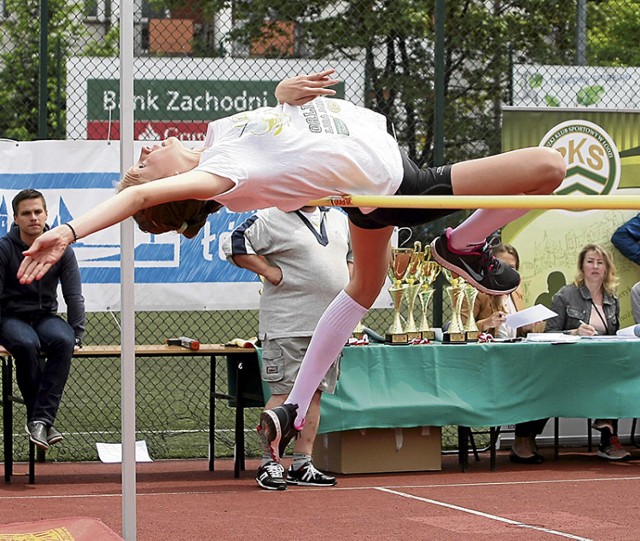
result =
[[386,119],[344,100],[316,98],[216,120],[205,147],[196,170],[235,183],[213,199],[237,212],[288,212],[328,195],[391,195],[402,182]]

